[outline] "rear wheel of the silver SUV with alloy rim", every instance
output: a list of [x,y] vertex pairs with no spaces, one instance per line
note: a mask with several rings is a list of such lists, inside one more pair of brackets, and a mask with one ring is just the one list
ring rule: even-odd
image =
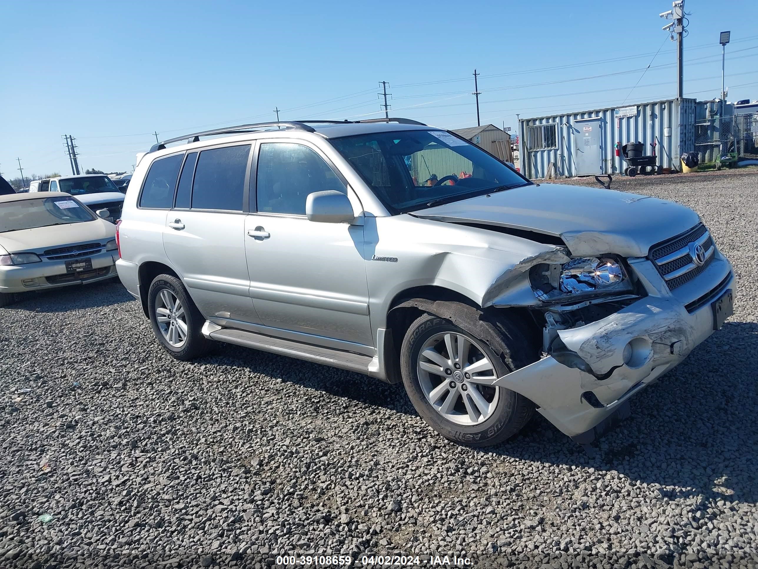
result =
[[174,275],[158,275],[148,291],[150,324],[161,346],[177,360],[188,361],[208,354],[212,342],[202,335],[205,324],[182,281]]

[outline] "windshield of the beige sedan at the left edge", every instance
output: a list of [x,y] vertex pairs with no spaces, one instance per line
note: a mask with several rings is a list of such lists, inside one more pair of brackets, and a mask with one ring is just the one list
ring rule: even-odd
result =
[[89,210],[68,196],[0,202],[0,233],[93,219]]

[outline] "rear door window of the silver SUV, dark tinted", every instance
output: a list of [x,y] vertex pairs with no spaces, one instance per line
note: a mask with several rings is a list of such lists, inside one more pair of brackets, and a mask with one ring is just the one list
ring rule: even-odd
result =
[[200,152],[195,168],[192,208],[241,212],[249,153],[249,145]]

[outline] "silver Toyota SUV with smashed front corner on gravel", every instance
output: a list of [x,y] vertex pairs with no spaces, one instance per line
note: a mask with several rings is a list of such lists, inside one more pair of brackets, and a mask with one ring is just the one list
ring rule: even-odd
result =
[[117,240],[121,281],[178,360],[223,341],[402,382],[475,446],[535,408],[592,442],[719,329],[735,288],[691,209],[534,184],[407,119],[156,144]]

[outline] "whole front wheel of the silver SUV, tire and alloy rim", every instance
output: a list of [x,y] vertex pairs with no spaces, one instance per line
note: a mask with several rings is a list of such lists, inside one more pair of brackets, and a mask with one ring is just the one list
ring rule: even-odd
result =
[[520,335],[503,337],[482,320],[478,330],[471,328],[429,313],[416,319],[402,341],[402,382],[418,414],[446,439],[473,447],[497,445],[520,431],[534,413],[527,398],[491,385],[525,365],[514,362],[515,350],[517,360],[528,350]]

